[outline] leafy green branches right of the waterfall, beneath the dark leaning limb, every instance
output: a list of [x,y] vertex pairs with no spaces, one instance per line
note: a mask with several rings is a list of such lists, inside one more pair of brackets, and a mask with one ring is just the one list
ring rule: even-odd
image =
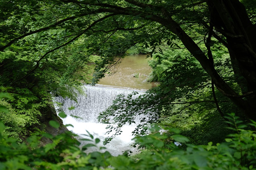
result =
[[[218,61],[216,68],[235,89],[237,85],[234,83],[226,49],[220,44],[216,44],[216,47],[220,48],[218,52],[213,51]],[[209,141],[216,144],[223,141],[230,131],[225,129],[227,124],[216,109],[211,79],[199,62],[186,49],[172,49],[154,54],[149,65],[152,67],[151,80],[158,81],[160,85],[136,99],[133,99],[132,94],[128,97],[119,95],[113,105],[100,114],[99,121],[108,124],[107,132],[115,132],[106,141],[118,135],[120,127],[134,122],[138,123],[134,130],[136,135],[144,134],[143,126],[161,123],[180,128],[182,134],[194,144],[207,144]],[[237,91],[240,89],[237,88]],[[227,97],[218,91],[215,94],[224,114],[230,110],[239,113]]]

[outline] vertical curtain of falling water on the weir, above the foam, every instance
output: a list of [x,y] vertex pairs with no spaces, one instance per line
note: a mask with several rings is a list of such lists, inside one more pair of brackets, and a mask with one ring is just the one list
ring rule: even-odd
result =
[[[81,117],[82,119],[77,119],[79,122],[97,122],[97,117],[99,113],[107,109],[112,101],[119,94],[124,94],[127,96],[132,93],[132,90],[126,89],[114,89],[114,88],[102,88],[95,86],[84,86],[86,95],[79,95],[77,98],[77,103],[68,98],[63,99],[62,97],[56,97],[55,101],[63,103],[63,111],[67,115],[73,115]],[[138,95],[135,95],[134,98],[138,97],[140,94],[143,94],[143,91],[138,91]],[[75,109],[69,110],[71,106],[74,106]]]

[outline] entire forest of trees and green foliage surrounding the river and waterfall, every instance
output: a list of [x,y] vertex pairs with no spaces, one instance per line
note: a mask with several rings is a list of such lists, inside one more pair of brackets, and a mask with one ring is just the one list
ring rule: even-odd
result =
[[[1,0],[0,169],[256,169],[255,16],[255,0]],[[141,152],[85,153],[99,139],[80,147],[52,97],[76,101],[129,51],[159,86],[98,119],[108,143],[147,115]]]

